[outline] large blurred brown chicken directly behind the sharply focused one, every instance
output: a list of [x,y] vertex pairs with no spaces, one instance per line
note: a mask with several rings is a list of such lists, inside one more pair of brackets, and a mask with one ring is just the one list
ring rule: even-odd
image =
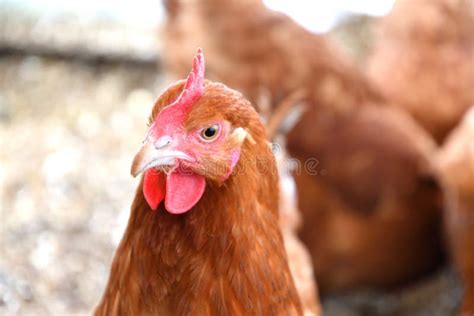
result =
[[[215,78],[269,112],[299,96],[306,112],[288,135],[300,236],[324,291],[393,287],[441,261],[441,190],[434,142],[383,99],[329,41],[261,1],[166,1],[165,64],[180,75],[203,45]],[[266,107],[260,103],[260,111]]]

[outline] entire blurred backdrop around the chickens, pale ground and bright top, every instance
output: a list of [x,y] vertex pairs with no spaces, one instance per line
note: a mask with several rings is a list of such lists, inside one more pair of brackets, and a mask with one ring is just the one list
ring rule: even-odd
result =
[[[264,2],[363,65],[394,1]],[[0,314],[86,315],[98,302],[137,186],[131,159],[172,82],[164,19],[158,0],[0,0]],[[333,296],[324,308],[433,315],[436,303],[448,315],[460,291],[446,267],[404,292]]]

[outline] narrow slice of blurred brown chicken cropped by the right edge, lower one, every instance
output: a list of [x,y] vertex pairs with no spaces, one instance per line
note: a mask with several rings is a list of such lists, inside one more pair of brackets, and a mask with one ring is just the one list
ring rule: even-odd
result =
[[464,282],[463,315],[474,315],[474,108],[448,136],[436,157],[446,186],[445,226]]

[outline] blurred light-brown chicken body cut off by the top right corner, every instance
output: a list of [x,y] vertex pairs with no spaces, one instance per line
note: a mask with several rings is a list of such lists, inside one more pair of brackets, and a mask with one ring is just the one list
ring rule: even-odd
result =
[[398,0],[378,33],[369,77],[442,143],[474,104],[474,2]]

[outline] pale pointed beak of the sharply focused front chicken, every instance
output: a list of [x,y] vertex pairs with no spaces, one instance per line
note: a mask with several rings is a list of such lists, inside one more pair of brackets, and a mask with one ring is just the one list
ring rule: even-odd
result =
[[145,142],[133,159],[130,173],[136,177],[151,168],[174,166],[178,159],[191,160],[182,151],[170,149],[169,146],[156,148],[151,142]]

